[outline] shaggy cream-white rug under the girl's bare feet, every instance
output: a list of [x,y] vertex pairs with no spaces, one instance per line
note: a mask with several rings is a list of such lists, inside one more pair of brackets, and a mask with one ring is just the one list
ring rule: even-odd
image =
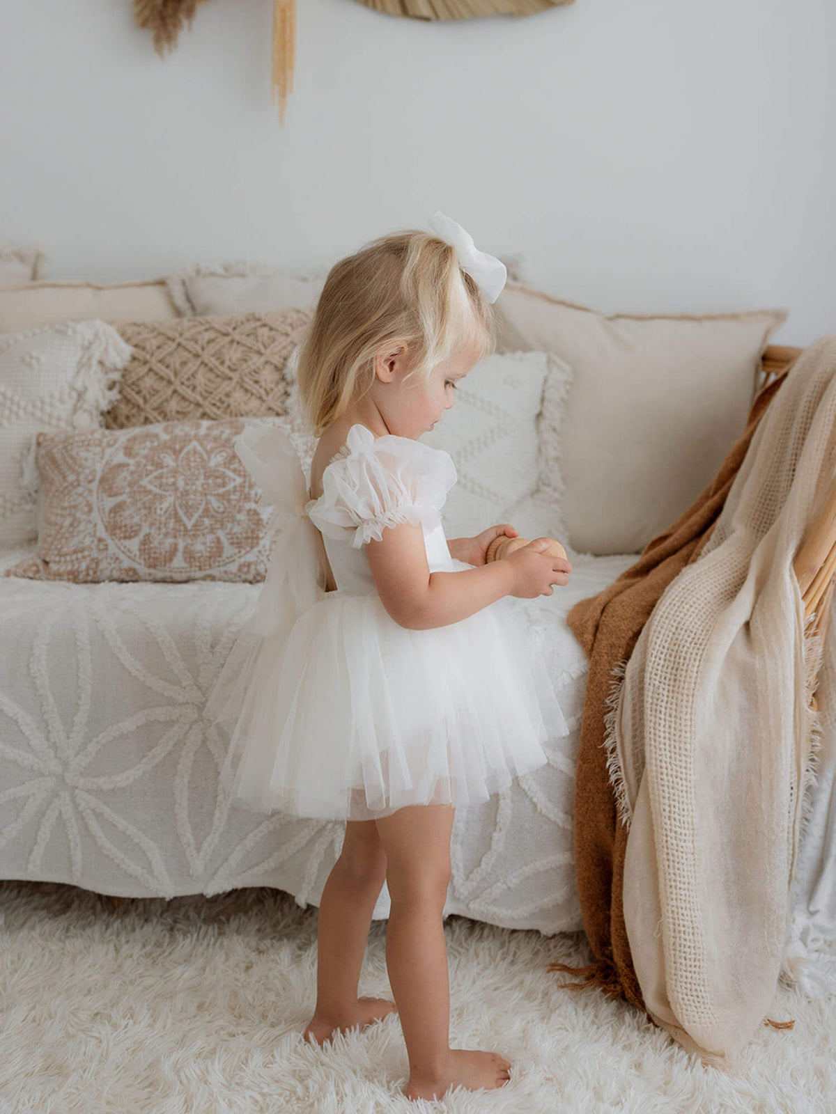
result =
[[[315,997],[317,910],[271,889],[108,898],[0,881],[3,1114],[694,1114],[836,1110],[836,997],[780,987],[737,1077],[704,1068],[624,1003],[557,988],[546,964],[590,959],[580,936],[450,917],[450,1043],[513,1062],[494,1092],[401,1094],[396,1015],[323,1049],[301,1032]],[[390,995],[386,925],[360,993]]]

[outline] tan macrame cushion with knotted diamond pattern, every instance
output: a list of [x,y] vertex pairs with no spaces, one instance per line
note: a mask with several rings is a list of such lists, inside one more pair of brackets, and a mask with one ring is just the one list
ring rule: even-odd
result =
[[285,413],[285,364],[309,321],[309,311],[286,310],[114,322],[134,354],[105,427]]

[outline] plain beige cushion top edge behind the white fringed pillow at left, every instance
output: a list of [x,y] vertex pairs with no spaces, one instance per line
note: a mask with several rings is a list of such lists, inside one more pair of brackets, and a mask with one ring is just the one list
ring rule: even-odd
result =
[[176,316],[165,278],[109,285],[45,280],[0,290],[0,333],[61,321],[163,321]]

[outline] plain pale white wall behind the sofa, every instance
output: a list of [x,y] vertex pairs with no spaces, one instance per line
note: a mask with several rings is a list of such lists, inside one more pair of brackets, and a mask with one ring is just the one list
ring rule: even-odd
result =
[[285,125],[271,0],[208,0],[161,59],[129,0],[7,3],[0,243],[49,275],[330,265],[441,208],[607,312],[787,306],[836,331],[832,0],[575,0],[425,22],[298,0]]

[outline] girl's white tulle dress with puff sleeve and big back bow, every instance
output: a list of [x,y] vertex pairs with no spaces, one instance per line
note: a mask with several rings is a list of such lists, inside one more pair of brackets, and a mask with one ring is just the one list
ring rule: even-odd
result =
[[309,499],[284,430],[250,426],[235,450],[275,505],[276,541],[206,703],[229,746],[221,783],[233,798],[261,812],[369,820],[408,804],[475,804],[543,765],[543,744],[568,727],[509,598],[414,631],[375,587],[364,544],[399,522],[421,525],[430,571],[474,567],[450,555],[441,524],[457,479],[449,453],[354,424]]

